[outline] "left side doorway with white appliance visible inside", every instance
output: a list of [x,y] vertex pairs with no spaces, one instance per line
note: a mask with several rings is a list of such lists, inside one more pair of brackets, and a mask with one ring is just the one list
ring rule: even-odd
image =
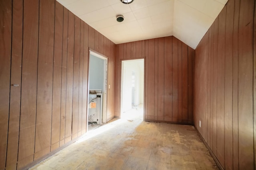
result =
[[88,81],[88,131],[106,123],[108,58],[90,51]]

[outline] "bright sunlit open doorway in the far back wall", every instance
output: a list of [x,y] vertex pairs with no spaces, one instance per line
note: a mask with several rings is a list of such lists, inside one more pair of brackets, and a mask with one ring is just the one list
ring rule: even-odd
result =
[[122,61],[121,118],[143,119],[144,59]]

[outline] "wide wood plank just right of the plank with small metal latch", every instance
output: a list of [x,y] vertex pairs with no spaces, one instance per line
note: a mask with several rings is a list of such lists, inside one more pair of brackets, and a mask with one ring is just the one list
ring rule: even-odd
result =
[[23,4],[23,47],[18,167],[34,159],[39,1]]

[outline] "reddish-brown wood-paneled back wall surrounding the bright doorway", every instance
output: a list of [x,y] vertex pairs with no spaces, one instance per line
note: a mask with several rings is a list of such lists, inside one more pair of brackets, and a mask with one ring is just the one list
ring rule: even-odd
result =
[[120,117],[122,60],[144,58],[144,119],[193,123],[193,57],[194,49],[172,36],[118,44],[115,115]]

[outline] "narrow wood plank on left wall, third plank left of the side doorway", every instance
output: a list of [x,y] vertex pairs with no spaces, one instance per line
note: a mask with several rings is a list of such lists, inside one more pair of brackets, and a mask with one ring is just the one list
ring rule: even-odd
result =
[[80,19],[75,16],[74,63],[73,63],[73,103],[72,103],[72,139],[78,133],[79,66],[80,66]]

